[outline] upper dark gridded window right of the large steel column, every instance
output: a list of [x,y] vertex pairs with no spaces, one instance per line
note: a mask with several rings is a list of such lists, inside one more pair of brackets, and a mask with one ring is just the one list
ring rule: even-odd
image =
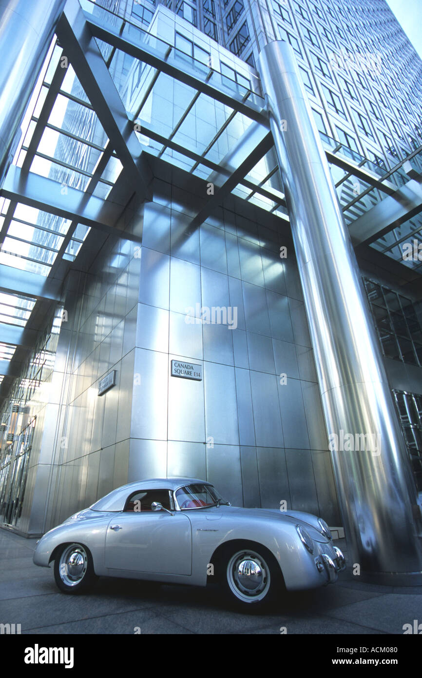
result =
[[410,299],[364,279],[383,354],[422,367],[422,329]]

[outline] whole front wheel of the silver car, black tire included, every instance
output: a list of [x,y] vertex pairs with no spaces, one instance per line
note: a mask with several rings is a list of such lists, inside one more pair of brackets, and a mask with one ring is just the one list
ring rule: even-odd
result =
[[242,612],[263,612],[280,602],[285,591],[274,556],[259,544],[238,544],[221,554],[220,582],[227,599]]

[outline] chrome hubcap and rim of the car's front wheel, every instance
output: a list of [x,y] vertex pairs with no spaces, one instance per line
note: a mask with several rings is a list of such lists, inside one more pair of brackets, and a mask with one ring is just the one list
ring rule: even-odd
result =
[[227,581],[236,598],[247,603],[262,600],[270,588],[270,570],[259,553],[238,551],[228,562]]

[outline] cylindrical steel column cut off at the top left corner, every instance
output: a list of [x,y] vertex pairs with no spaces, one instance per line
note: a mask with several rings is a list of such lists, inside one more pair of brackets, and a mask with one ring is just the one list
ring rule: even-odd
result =
[[66,0],[0,0],[0,185]]

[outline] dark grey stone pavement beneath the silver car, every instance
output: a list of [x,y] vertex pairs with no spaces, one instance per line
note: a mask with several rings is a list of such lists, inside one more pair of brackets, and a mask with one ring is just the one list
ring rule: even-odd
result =
[[[344,540],[336,542],[345,550]],[[211,585],[170,586],[101,577],[90,595],[60,593],[33,565],[35,540],[0,529],[0,623],[22,634],[400,634],[422,621],[422,586],[365,584],[342,572],[324,589],[290,593],[271,614],[234,612]]]

